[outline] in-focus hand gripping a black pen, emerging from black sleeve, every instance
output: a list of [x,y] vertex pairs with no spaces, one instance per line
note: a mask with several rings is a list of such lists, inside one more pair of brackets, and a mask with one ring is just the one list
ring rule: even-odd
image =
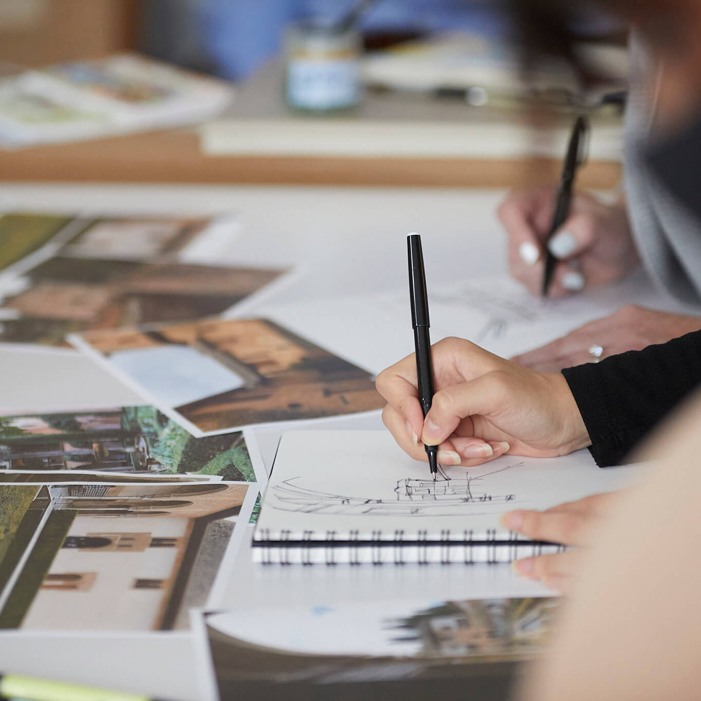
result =
[[465,467],[505,452],[551,457],[590,444],[562,375],[520,367],[463,339],[435,343],[432,356],[436,392],[426,420],[413,354],[383,370],[376,383],[388,402],[385,425],[416,460],[427,460],[421,442],[439,447],[440,463]]

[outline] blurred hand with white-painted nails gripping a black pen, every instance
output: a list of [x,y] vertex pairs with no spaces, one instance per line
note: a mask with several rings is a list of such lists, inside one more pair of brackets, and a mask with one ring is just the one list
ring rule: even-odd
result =
[[[554,188],[514,192],[497,212],[509,237],[511,274],[536,295],[543,284],[544,240],[552,223],[555,196]],[[559,259],[550,297],[611,283],[639,264],[625,205],[605,205],[587,193],[573,197],[568,219],[547,247]]]

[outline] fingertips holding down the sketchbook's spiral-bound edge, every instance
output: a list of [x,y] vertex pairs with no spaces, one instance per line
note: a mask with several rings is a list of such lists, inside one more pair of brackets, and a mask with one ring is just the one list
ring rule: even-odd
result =
[[531,540],[548,540],[576,548],[526,557],[515,562],[514,569],[524,577],[540,580],[546,587],[568,592],[578,575],[582,548],[589,545],[595,526],[614,510],[623,494],[625,491],[594,494],[542,512],[519,510],[504,514],[501,524],[510,531]]

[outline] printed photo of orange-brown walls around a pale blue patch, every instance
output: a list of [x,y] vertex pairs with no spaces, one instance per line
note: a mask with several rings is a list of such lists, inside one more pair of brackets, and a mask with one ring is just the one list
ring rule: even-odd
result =
[[82,342],[202,433],[384,406],[372,374],[266,319],[94,332]]

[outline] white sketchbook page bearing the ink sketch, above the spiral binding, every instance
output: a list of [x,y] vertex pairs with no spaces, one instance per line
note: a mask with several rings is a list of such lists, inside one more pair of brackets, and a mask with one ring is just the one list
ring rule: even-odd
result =
[[280,442],[255,538],[456,539],[500,529],[514,509],[550,508],[640,479],[637,466],[600,470],[587,451],[506,455],[477,468],[428,466],[386,431],[294,431]]

